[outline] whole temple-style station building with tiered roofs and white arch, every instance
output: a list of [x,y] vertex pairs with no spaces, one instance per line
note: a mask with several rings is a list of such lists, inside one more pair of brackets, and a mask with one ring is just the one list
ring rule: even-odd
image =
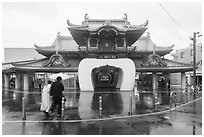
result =
[[[122,90],[132,89],[135,81],[141,88],[168,87],[173,84],[173,73],[180,75],[179,88],[186,88],[186,72],[193,70],[192,64],[165,59],[174,45],[157,46],[148,33],[145,35],[148,21],[131,25],[126,14],[122,19],[109,20],[85,15],[82,25],[69,20],[67,24],[72,36],[57,34],[52,45],[34,45],[43,58],[3,64],[5,89],[9,88],[11,76],[15,77],[15,89],[26,91],[35,87],[36,79],[47,79],[58,72],[73,76],[72,81],[63,81],[65,87],[81,90],[93,90],[97,84],[114,85],[114,75],[118,73],[116,88]],[[119,72],[106,69],[109,66],[119,68]],[[93,73],[98,67],[98,73]]]

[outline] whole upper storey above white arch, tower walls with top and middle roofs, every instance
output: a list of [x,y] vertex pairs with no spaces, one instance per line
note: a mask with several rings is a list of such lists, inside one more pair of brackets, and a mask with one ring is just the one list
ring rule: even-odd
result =
[[143,35],[148,21],[141,25],[131,25],[126,14],[122,19],[90,19],[87,16],[81,25],[67,21],[72,37],[58,33],[51,46],[34,45],[36,51],[48,58],[55,53],[67,58],[96,58],[99,54],[114,55],[117,58],[143,58],[153,51],[164,56],[173,50],[173,45],[156,46],[148,32],[148,35]]

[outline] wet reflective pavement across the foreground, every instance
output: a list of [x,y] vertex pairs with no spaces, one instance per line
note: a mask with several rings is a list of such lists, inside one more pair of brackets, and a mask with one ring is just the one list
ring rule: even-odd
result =
[[[66,90],[64,118],[46,120],[37,90],[2,92],[3,135],[201,135],[202,93]],[[99,110],[102,98],[102,110]],[[22,120],[25,97],[26,120]],[[56,113],[56,110],[55,110]],[[101,116],[101,117],[100,117]]]

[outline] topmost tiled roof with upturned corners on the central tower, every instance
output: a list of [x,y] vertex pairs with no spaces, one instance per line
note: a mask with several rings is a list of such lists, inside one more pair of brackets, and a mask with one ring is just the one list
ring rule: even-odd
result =
[[115,31],[116,37],[125,36],[127,46],[131,46],[147,29],[148,20],[141,25],[131,25],[126,14],[123,19],[89,19],[86,14],[82,25],[72,24],[69,20],[67,24],[72,37],[79,46],[86,45],[86,40],[90,35],[99,35],[104,29]]

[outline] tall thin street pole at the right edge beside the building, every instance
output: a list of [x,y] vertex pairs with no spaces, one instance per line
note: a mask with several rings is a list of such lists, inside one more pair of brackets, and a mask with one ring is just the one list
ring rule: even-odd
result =
[[[196,35],[199,34],[199,32],[193,33],[193,38],[190,38],[193,40],[193,92],[194,95],[196,93]],[[198,35],[197,37],[201,37],[202,35]]]

